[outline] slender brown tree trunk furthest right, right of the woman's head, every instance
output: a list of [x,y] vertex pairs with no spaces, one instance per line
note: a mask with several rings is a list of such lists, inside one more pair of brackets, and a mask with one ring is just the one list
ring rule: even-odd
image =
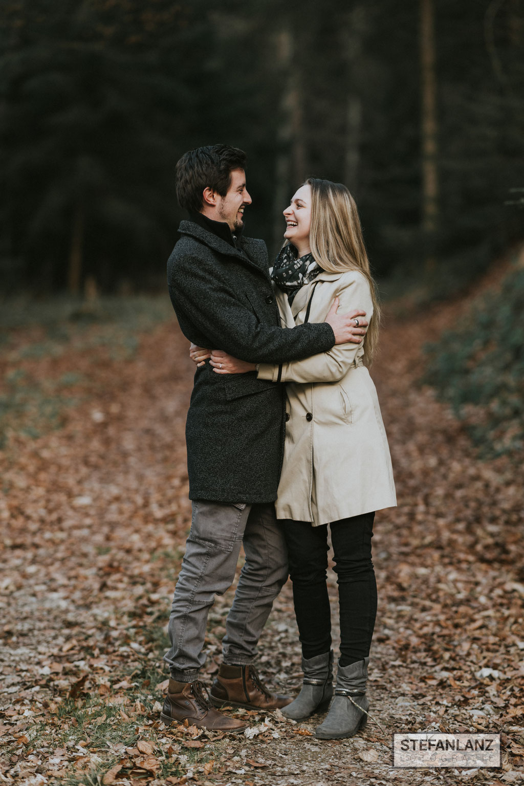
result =
[[427,271],[434,268],[438,229],[437,79],[433,0],[420,0],[422,231]]

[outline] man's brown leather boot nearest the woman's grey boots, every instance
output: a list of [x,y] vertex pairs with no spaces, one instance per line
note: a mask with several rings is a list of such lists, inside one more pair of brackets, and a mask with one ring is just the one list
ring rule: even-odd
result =
[[230,666],[222,663],[211,685],[211,702],[215,707],[245,707],[247,710],[280,710],[290,704],[292,696],[270,693],[253,666]]

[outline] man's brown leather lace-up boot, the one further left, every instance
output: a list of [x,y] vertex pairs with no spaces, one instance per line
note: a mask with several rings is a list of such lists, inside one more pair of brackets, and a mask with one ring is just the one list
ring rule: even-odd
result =
[[228,718],[211,707],[207,690],[199,680],[177,682],[170,679],[160,719],[170,725],[173,721],[183,723],[186,718],[189,725],[198,729],[215,732],[243,732],[247,729],[247,723]]

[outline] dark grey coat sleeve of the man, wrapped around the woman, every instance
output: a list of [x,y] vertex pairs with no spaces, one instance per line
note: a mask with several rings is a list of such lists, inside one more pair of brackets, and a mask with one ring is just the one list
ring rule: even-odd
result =
[[264,325],[234,291],[225,272],[205,259],[183,254],[170,265],[168,284],[174,310],[185,325],[207,337],[207,346],[253,363],[282,363],[324,352],[335,343],[331,325],[294,329]]

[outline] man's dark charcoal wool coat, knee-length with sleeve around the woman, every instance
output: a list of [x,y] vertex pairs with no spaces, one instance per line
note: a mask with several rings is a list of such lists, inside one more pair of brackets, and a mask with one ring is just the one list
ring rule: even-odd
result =
[[[328,351],[330,325],[280,327],[266,244],[243,238],[242,250],[182,221],[167,263],[167,283],[181,331],[200,347],[255,363],[284,363]],[[255,372],[196,369],[185,436],[189,497],[270,502],[284,452],[284,386]]]

